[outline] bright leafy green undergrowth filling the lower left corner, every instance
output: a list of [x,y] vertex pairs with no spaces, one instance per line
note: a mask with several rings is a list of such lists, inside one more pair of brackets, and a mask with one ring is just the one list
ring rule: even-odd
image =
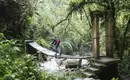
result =
[[30,55],[23,54],[15,41],[0,43],[0,79],[40,80],[40,71]]

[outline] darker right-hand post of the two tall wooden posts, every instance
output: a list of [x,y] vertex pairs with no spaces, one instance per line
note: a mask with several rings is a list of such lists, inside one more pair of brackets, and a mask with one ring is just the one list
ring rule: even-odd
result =
[[106,13],[106,56],[113,57],[113,16],[112,10]]

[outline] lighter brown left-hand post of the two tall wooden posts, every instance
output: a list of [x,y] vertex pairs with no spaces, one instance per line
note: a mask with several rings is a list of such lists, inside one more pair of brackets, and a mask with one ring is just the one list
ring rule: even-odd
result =
[[98,12],[91,12],[92,20],[92,53],[93,57],[96,59],[100,58],[99,54],[99,17]]

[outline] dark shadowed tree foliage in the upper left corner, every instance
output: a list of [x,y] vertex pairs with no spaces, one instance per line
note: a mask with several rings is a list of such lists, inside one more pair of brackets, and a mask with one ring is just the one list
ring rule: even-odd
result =
[[[5,16],[0,19],[0,32],[3,32],[7,38],[23,38],[25,29],[28,29],[32,23],[34,7],[36,6],[35,0],[3,0],[2,11]],[[1,17],[0,17],[1,18]]]

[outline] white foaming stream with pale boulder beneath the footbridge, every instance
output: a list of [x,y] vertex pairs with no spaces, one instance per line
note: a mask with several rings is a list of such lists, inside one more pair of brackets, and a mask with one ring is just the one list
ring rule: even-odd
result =
[[64,59],[64,58],[55,58],[55,57],[48,57],[46,62],[40,63],[40,69],[41,70],[47,70],[49,73],[59,72],[59,71],[65,71],[66,65],[72,64],[72,65],[81,65],[85,66],[88,64],[88,61],[86,59],[82,59],[80,64],[80,59]]

